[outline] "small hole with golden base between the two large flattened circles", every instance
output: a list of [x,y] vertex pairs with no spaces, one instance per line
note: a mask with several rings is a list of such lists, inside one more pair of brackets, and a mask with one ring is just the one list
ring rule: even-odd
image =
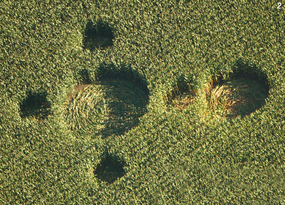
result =
[[192,79],[184,75],[180,76],[177,83],[166,96],[167,104],[175,108],[184,109],[194,102],[196,93],[192,89]]

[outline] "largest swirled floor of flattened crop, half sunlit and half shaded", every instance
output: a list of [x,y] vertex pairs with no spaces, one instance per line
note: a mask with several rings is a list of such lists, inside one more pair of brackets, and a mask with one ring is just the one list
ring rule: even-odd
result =
[[80,134],[119,135],[139,123],[147,103],[148,95],[132,82],[103,80],[77,93],[67,109],[67,121]]

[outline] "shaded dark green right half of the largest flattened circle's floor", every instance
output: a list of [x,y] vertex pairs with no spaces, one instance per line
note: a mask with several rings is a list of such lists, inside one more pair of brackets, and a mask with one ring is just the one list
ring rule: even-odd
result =
[[110,108],[109,119],[101,133],[103,138],[123,134],[138,125],[138,118],[147,110],[148,95],[131,82],[106,80],[99,82],[106,87],[105,95]]

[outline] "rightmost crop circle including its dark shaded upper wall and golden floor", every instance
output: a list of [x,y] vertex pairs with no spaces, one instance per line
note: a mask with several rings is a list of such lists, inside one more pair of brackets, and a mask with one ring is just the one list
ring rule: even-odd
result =
[[266,104],[269,85],[266,75],[254,65],[239,60],[232,70],[225,79],[210,83],[208,105],[227,118],[244,118]]

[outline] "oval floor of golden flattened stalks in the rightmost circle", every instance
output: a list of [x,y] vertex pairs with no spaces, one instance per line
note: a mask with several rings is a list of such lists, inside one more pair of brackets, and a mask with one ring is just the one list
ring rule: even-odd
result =
[[267,96],[262,82],[238,78],[217,84],[210,91],[209,103],[225,117],[245,117],[265,105]]

